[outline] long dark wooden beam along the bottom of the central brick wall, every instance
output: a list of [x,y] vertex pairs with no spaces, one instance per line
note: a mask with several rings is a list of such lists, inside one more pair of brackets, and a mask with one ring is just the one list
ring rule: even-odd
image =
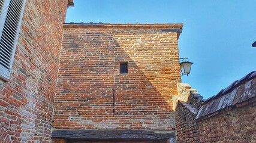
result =
[[175,138],[174,133],[155,133],[150,130],[53,130],[52,138],[66,139],[169,139]]

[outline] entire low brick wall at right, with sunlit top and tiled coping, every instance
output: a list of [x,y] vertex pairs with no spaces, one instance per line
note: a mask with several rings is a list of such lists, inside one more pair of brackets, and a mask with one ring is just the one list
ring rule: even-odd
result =
[[182,91],[179,98],[189,95],[186,98],[194,100],[176,101],[178,142],[256,142],[256,71],[236,80],[200,107],[194,104],[198,97],[184,85],[178,86]]

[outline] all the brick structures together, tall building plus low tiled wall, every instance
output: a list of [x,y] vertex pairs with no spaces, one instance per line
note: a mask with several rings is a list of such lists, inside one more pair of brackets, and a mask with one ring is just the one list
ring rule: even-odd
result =
[[255,72],[203,102],[183,24],[63,24],[73,5],[0,0],[0,142],[256,141]]

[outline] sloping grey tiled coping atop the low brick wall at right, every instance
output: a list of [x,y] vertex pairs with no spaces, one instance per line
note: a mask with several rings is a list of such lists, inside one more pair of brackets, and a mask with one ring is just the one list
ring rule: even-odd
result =
[[252,71],[217,95],[204,101],[196,119],[256,97],[256,71]]

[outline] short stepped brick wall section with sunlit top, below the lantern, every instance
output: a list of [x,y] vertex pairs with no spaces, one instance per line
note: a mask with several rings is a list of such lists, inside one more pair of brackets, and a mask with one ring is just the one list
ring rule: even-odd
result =
[[173,98],[177,142],[198,142],[199,129],[195,117],[203,97],[186,83],[177,86],[179,95]]

